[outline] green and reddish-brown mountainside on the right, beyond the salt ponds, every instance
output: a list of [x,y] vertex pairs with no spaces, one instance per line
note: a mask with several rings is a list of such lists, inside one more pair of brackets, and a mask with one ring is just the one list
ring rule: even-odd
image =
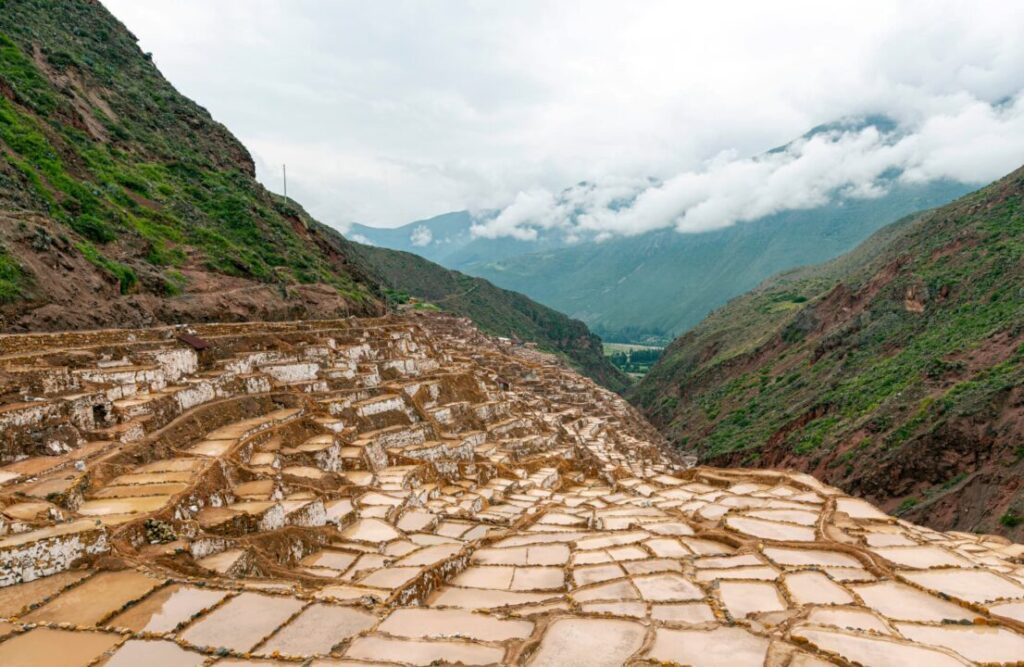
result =
[[1022,200],[1024,169],[766,281],[675,340],[631,400],[703,461],[1021,537]]

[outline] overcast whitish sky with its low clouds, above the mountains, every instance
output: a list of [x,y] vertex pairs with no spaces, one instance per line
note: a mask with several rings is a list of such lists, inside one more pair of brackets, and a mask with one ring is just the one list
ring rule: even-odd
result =
[[[489,238],[695,233],[1024,164],[1019,0],[104,4],[343,231],[469,209]],[[865,115],[897,127],[794,141]]]

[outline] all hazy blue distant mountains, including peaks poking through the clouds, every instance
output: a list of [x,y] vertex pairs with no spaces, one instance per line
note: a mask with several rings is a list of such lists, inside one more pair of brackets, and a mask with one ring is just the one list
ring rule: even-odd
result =
[[[867,116],[820,125],[798,140],[868,128],[890,138],[900,135],[891,119]],[[768,154],[787,151],[791,144]],[[973,190],[947,180],[906,183],[899,175],[886,175],[885,193],[879,197],[836,194],[823,206],[699,234],[660,230],[600,242],[592,234],[569,244],[560,231],[547,230],[540,231],[537,241],[485,239],[472,235],[473,216],[465,211],[396,230],[353,225],[351,234],[522,292],[583,320],[606,340],[664,344],[766,278],[831,259],[885,224]],[[571,193],[591,186],[578,183],[558,201],[573,210]]]

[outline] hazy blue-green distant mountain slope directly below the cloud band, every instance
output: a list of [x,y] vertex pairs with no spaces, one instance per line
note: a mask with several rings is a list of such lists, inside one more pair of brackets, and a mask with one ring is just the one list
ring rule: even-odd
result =
[[461,268],[579,318],[607,340],[666,342],[769,276],[830,259],[882,225],[968,190],[954,182],[894,185],[878,199],[786,211],[716,232],[665,230]]

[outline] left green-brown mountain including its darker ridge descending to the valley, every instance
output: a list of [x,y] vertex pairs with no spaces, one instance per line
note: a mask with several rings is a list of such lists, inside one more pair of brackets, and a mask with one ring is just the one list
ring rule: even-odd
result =
[[580,323],[392,254],[267,192],[98,2],[0,2],[0,330],[381,315],[408,259],[441,307],[625,386]]

